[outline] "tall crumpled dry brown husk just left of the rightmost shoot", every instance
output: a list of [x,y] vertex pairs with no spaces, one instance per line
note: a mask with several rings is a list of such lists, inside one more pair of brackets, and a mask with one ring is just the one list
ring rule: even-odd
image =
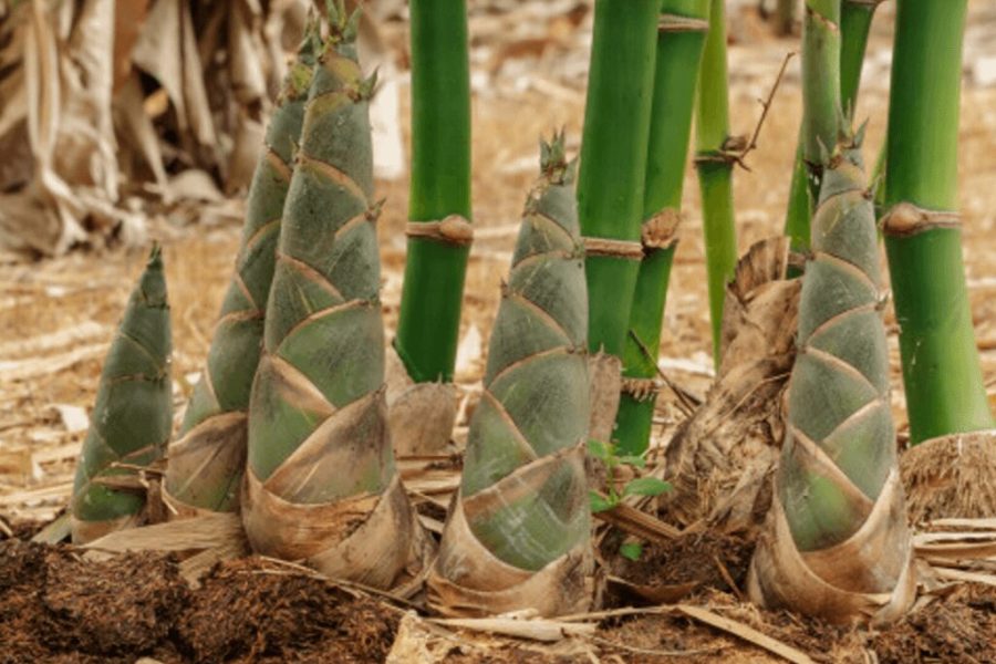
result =
[[753,246],[727,287],[723,362],[706,402],[667,447],[661,497],[666,519],[709,518],[728,531],[767,512],[769,483],[785,435],[782,393],[795,361],[800,280],[786,280],[788,241]]

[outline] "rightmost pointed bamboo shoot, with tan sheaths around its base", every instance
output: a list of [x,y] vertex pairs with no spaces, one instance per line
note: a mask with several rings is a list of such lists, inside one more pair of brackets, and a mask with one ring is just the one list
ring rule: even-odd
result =
[[775,513],[748,582],[769,606],[837,622],[892,620],[915,595],[862,134],[824,162]]

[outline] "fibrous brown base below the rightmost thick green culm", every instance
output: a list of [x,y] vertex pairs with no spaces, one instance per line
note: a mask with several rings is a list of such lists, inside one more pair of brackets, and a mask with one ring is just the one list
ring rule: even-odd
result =
[[911,523],[996,515],[996,430],[924,440],[900,457]]

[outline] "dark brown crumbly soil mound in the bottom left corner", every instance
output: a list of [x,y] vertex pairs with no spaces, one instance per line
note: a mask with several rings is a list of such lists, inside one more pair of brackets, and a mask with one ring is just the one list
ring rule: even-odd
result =
[[191,590],[164,556],[95,562],[70,547],[0,542],[4,664],[382,662],[397,616],[259,559],[221,564]]

